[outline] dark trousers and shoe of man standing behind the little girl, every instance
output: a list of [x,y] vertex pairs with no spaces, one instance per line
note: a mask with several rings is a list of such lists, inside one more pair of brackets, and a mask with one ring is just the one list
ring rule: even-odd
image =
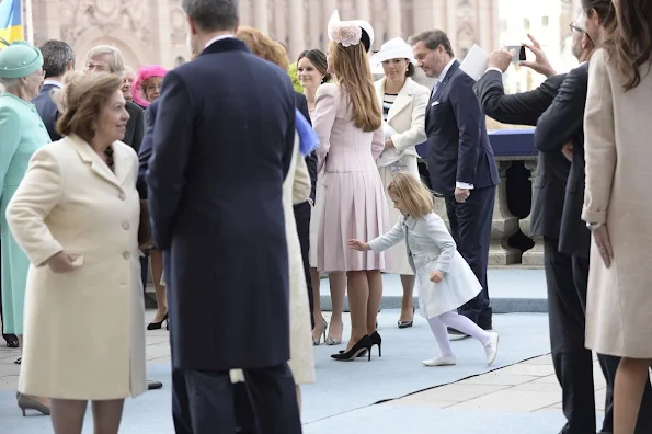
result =
[[495,186],[471,190],[465,203],[457,202],[454,196],[446,196],[446,214],[457,250],[482,285],[480,294],[461,306],[458,312],[483,329],[491,329],[492,326],[487,265],[494,201]]

